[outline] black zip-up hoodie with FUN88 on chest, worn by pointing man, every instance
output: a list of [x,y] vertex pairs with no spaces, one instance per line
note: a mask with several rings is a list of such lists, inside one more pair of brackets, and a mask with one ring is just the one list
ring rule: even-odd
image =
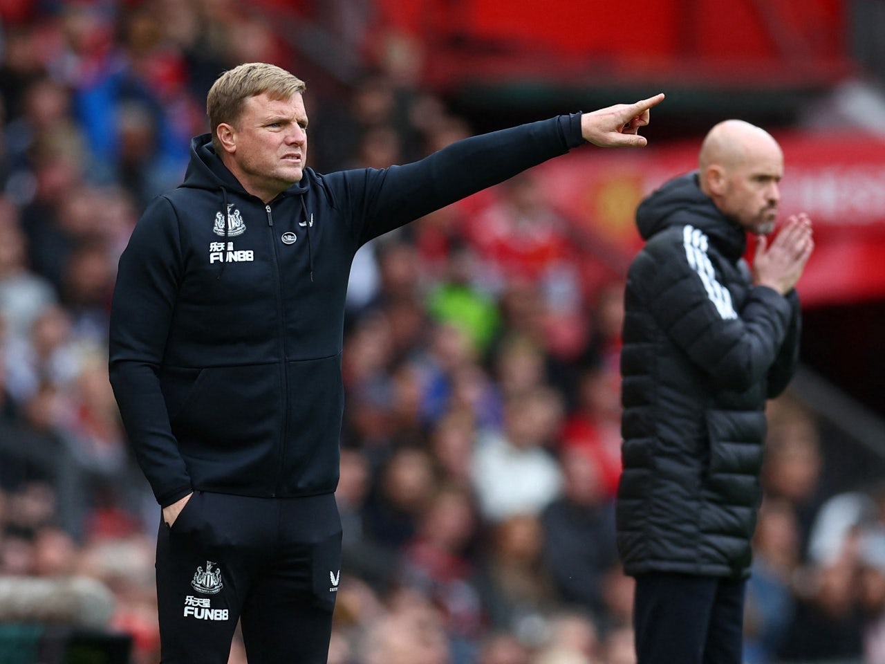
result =
[[581,114],[474,136],[418,162],[320,175],[269,204],[191,142],[119,273],[110,372],[159,504],[191,490],[335,490],[350,263],[373,237],[581,145]]

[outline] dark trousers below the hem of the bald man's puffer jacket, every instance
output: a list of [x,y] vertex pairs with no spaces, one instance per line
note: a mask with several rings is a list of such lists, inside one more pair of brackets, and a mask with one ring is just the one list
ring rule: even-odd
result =
[[741,664],[744,579],[636,576],[638,664]]

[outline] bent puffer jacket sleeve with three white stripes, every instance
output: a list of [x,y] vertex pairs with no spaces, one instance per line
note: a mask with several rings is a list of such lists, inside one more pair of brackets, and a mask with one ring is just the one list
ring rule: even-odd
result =
[[[749,390],[766,381],[787,336],[793,311],[772,289],[750,287],[737,304],[703,233],[690,225],[653,237],[635,281],[646,284],[645,303],[660,328],[718,390]],[[715,264],[715,266],[714,266]]]

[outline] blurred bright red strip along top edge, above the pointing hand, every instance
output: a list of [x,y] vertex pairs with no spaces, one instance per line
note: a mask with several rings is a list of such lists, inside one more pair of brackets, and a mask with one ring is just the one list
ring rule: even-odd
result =
[[559,0],[543,11],[536,0],[373,6],[381,25],[426,46],[423,79],[441,88],[534,75],[778,88],[835,81],[850,68],[847,0]]

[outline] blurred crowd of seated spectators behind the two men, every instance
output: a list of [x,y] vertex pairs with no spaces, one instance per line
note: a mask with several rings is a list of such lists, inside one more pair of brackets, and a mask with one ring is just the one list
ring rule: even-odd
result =
[[[109,302],[142,207],[181,181],[206,130],[214,77],[255,60],[301,75],[263,6],[0,2],[9,661],[59,623],[126,635],[133,664],[158,661],[159,509],[108,382]],[[320,172],[471,133],[421,88],[407,40],[373,52],[343,92],[312,97],[307,81]],[[585,243],[529,172],[358,253],[330,664],[635,661],[612,521],[623,275]],[[772,402],[770,421],[746,661],[885,662],[885,490],[827,492],[821,428],[797,398]],[[239,638],[230,661],[245,662]]]

